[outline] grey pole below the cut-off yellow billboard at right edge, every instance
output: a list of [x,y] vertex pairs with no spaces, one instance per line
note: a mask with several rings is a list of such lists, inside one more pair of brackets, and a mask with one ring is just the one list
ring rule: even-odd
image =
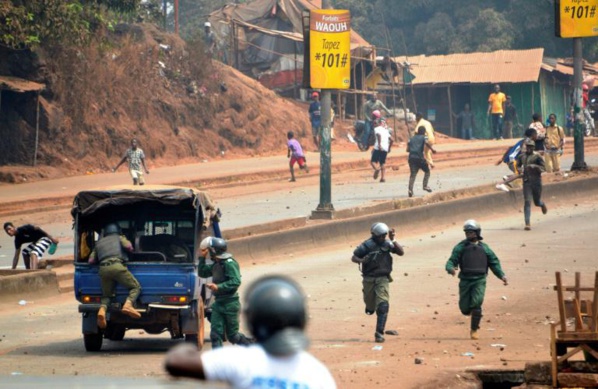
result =
[[573,99],[575,113],[575,129],[573,132],[574,158],[571,170],[587,170],[584,160],[583,126],[584,112],[582,102],[582,38],[573,38]]

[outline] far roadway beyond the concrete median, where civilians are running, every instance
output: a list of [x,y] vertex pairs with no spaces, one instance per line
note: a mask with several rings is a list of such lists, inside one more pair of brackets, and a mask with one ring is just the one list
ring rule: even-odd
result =
[[[598,139],[591,139],[592,144],[598,144]],[[513,140],[504,141],[473,141],[463,143],[440,144],[437,149],[439,156],[451,151],[471,151],[494,148],[495,156],[473,158],[467,160],[452,160],[441,162],[438,168],[432,171],[430,186],[435,191],[449,191],[467,188],[482,184],[497,182],[508,169],[503,164],[494,166],[493,162],[501,153],[513,143]],[[572,144],[572,140],[569,144]],[[404,152],[401,151],[404,155]],[[333,153],[333,165],[355,162],[356,164],[367,161],[369,153],[339,152]],[[319,167],[319,156],[316,153],[308,154],[312,168]],[[589,165],[598,165],[598,151],[588,152],[585,158]],[[152,170],[148,182],[169,184],[184,181],[197,182],[214,179],[217,177],[230,177],[242,174],[272,175],[276,172],[282,174],[279,179],[273,179],[266,188],[251,190],[251,185],[243,182],[237,186],[246,187],[246,194],[239,195],[240,190],[234,190],[235,196],[227,194],[230,188],[219,187],[210,189],[218,205],[224,212],[223,229],[247,227],[251,225],[268,223],[295,217],[307,217],[315,210],[319,203],[319,176],[318,174],[298,175],[298,182],[287,183],[288,172],[285,166],[285,155],[263,158],[250,158],[243,160],[208,161],[201,164],[164,167]],[[563,167],[572,164],[572,155],[565,155]],[[282,169],[281,169],[282,167]],[[353,170],[332,175],[332,204],[336,210],[348,209],[379,201],[407,197],[408,167],[400,166],[398,171],[389,171],[387,182],[381,184],[372,179],[370,169]],[[415,186],[415,195],[422,196],[420,173]],[[41,194],[44,197],[74,196],[78,191],[88,188],[102,187],[115,184],[128,184],[129,176],[126,172],[105,173],[93,176],[68,177],[58,180],[49,180],[19,185],[0,186],[0,211],[2,204],[14,201],[35,201]],[[231,184],[235,185],[235,184]],[[56,255],[72,253],[71,219],[65,210],[51,218],[48,223],[46,214],[23,215],[11,217],[15,223],[42,223],[43,227],[53,234],[64,237]],[[41,221],[36,221],[41,220]],[[14,253],[12,238],[0,234],[0,268],[10,266]],[[21,261],[22,266],[22,261]]]

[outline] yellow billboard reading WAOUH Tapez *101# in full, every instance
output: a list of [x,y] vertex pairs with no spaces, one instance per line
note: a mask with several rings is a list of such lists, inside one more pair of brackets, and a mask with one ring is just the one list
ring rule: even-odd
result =
[[320,89],[351,86],[351,14],[318,9],[309,18],[310,85]]

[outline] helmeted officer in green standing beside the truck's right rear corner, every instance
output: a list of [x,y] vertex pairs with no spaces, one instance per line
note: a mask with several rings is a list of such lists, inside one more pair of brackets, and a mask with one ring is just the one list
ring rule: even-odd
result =
[[[200,247],[202,246],[200,245]],[[222,347],[222,342],[225,339],[234,344],[247,345],[251,343],[245,335],[239,332],[241,303],[237,289],[241,286],[241,272],[239,264],[226,249],[227,244],[224,239],[211,238],[207,242],[207,248],[201,251],[197,269],[200,277],[212,277],[212,282],[206,284],[215,297],[210,318],[212,348]],[[214,261],[213,264],[206,264],[208,252]]]

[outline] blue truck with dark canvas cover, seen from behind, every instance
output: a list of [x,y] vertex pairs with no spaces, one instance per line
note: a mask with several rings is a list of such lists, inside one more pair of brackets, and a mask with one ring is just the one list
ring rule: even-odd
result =
[[[99,351],[104,339],[119,341],[127,330],[168,331],[172,339],[204,342],[207,292],[197,275],[202,236],[216,220],[210,196],[191,188],[123,186],[79,192],[71,214],[74,228],[75,298],[82,315],[87,351]],[[102,296],[98,265],[89,255],[102,228],[117,223],[133,243],[126,265],[141,284],[136,302],[140,319],[120,312],[128,295],[118,285],[107,311],[107,327],[97,326]]]

